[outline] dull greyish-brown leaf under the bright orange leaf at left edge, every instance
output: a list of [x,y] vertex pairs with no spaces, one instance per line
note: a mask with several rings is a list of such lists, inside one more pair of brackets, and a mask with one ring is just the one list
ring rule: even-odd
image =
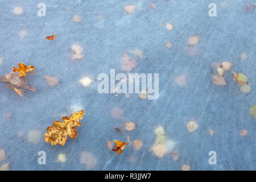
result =
[[11,89],[13,89],[14,87],[15,88],[22,87],[23,89],[29,89],[34,92],[37,91],[34,87],[31,87],[30,85],[27,84],[27,77],[20,77],[19,73],[15,73],[15,72],[7,73],[1,79],[1,81],[8,82],[6,86]]

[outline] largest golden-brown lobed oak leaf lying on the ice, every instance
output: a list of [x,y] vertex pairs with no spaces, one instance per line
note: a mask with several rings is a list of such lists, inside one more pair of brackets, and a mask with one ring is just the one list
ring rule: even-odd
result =
[[63,122],[55,121],[53,126],[47,127],[47,133],[44,134],[44,140],[47,143],[51,143],[52,146],[55,146],[59,143],[61,146],[67,141],[68,136],[71,139],[77,137],[76,127],[80,127],[80,119],[84,116],[84,111],[77,111],[75,114],[71,114],[71,117],[64,116],[62,118]]

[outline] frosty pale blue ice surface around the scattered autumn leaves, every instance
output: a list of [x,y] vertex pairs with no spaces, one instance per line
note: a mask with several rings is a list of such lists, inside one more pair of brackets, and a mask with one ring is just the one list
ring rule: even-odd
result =
[[[46,4],[42,17],[41,2]],[[214,1],[217,16],[210,17],[211,2],[1,0],[0,76],[18,63],[34,65],[36,74],[27,78],[38,91],[27,90],[22,98],[0,82],[0,148],[6,155],[0,166],[181,170],[187,164],[191,170],[255,170],[256,120],[249,110],[256,104],[256,2]],[[55,40],[45,39],[57,33]],[[72,45],[82,48],[76,60],[71,59]],[[122,71],[123,55],[130,57],[131,71]],[[233,64],[231,71],[246,73],[249,93],[240,91],[231,71],[224,73],[226,86],[213,84],[211,65],[222,61]],[[125,74],[159,73],[158,99],[99,94],[97,76],[110,75],[112,68]],[[59,81],[49,86],[44,75]],[[182,86],[174,81],[180,75]],[[92,80],[88,86],[79,82],[84,77]],[[65,146],[46,143],[46,128],[75,108],[85,111],[78,137],[68,138]],[[189,132],[192,119],[198,126]],[[136,129],[127,131],[123,122],[134,122]],[[163,158],[151,150],[159,124],[166,132],[160,142],[175,142]],[[115,139],[127,142],[121,155],[107,146]],[[142,141],[140,150],[133,147],[136,139]],[[38,164],[39,151],[46,152],[46,165]],[[216,165],[208,163],[209,151],[216,151]],[[56,162],[60,154],[66,155],[65,162]]]

